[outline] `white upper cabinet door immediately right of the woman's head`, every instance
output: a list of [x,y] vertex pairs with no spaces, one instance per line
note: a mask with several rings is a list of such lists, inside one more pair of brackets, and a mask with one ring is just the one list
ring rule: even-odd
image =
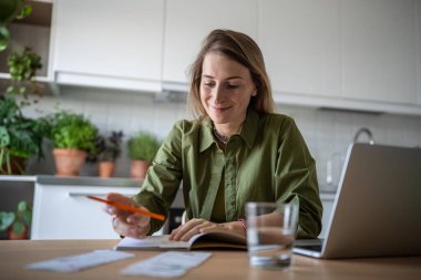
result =
[[258,1],[259,44],[277,93],[340,94],[337,0]]

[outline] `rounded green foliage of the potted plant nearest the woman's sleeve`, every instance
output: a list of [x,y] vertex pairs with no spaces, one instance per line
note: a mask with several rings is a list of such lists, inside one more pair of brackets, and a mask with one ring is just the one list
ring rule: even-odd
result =
[[161,143],[147,132],[138,132],[127,142],[129,156],[131,159],[152,160],[160,148]]

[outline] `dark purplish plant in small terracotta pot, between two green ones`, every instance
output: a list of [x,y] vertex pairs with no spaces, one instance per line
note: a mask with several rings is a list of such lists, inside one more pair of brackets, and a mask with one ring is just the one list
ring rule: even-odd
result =
[[121,154],[123,132],[112,132],[109,137],[100,135],[96,137],[96,155],[100,177],[113,177],[115,160]]

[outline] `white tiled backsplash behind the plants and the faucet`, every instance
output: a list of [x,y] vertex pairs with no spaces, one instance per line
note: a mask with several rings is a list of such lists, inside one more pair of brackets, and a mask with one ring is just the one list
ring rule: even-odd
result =
[[[90,116],[103,133],[122,129],[125,139],[137,129],[147,129],[164,138],[181,118],[192,118],[184,103],[157,102],[152,94],[112,90],[64,87],[59,96],[44,96],[37,105],[25,108],[28,116],[40,116],[54,108],[69,108]],[[327,162],[332,163],[332,180],[337,182],[348,145],[361,127],[368,127],[377,144],[421,146],[421,117],[389,114],[364,114],[325,111],[314,107],[280,105],[279,112],[292,116],[317,160],[321,190],[335,190],[327,184]],[[360,137],[367,141],[367,137]],[[32,164],[30,172],[52,174],[52,156]],[[86,164],[82,175],[95,175],[96,168]],[[117,160],[115,176],[127,177],[130,160],[124,148]]]

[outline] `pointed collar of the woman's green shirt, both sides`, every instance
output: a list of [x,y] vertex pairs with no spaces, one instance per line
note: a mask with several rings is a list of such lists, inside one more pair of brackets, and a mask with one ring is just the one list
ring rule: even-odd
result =
[[[253,147],[253,144],[255,143],[256,135],[257,135],[257,126],[259,121],[259,114],[249,108],[247,111],[246,121],[244,122],[240,132],[238,135],[244,139],[248,148]],[[205,117],[202,120],[202,137],[199,143],[199,152],[204,152],[208,147],[210,147],[212,144],[216,142],[214,139],[214,134],[212,132],[213,123],[209,117]]]

